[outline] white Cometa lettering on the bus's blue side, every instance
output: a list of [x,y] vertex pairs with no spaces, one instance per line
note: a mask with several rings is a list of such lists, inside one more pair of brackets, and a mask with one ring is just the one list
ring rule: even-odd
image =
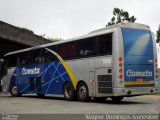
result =
[[33,68],[33,69],[27,69],[27,68],[23,68],[22,69],[22,74],[23,75],[35,75],[35,74],[40,74],[40,68]]

